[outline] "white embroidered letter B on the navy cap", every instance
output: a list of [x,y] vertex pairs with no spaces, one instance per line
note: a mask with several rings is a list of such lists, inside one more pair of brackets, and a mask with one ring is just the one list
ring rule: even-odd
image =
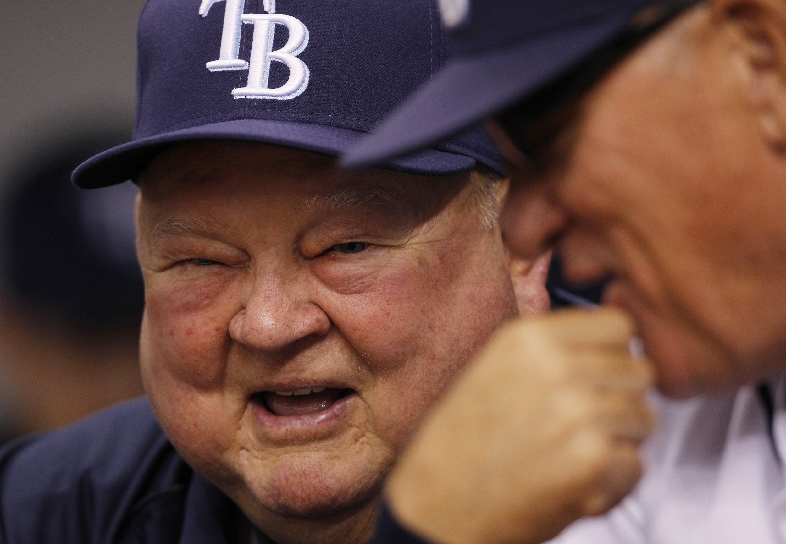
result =
[[[244,23],[254,25],[251,62],[248,63],[248,86],[235,89],[236,98],[273,98],[288,100],[298,97],[308,86],[308,66],[297,56],[308,46],[308,28],[290,15],[249,13],[242,17]],[[283,24],[289,31],[285,46],[273,50],[276,25]],[[278,61],[289,68],[289,79],[283,86],[270,89],[270,61]]]

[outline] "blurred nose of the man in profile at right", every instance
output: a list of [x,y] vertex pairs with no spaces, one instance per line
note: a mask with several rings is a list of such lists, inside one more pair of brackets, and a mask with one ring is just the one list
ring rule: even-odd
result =
[[545,185],[527,185],[514,176],[501,225],[510,250],[531,259],[553,246],[567,228],[568,219]]

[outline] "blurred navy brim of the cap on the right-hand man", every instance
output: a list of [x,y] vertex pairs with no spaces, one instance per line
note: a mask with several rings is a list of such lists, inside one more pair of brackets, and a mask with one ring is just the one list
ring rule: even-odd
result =
[[625,10],[520,46],[450,62],[344,155],[341,164],[380,164],[457,134],[564,74],[617,35],[630,17]]

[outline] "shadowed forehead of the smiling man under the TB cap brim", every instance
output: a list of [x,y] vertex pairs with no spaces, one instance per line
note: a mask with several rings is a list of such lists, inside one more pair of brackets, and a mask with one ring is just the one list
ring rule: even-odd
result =
[[313,214],[378,210],[429,215],[470,182],[470,175],[417,176],[372,168],[346,171],[333,157],[249,142],[191,142],[160,153],[139,185],[149,204],[214,198],[276,203]]

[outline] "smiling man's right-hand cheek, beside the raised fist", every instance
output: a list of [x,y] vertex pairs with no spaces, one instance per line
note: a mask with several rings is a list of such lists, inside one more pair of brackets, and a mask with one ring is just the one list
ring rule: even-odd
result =
[[516,313],[501,242],[445,249],[388,260],[357,282],[365,290],[338,297],[331,315],[376,378],[366,401],[376,434],[395,449],[494,329]]

